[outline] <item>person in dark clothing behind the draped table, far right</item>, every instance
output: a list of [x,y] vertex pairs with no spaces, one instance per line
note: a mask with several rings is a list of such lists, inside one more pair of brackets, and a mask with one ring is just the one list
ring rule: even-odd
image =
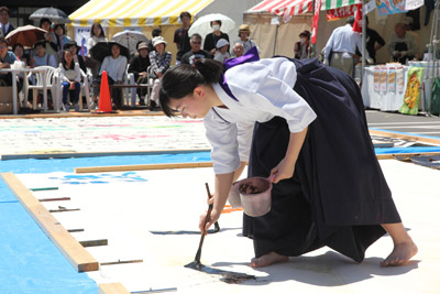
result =
[[405,64],[408,59],[413,59],[416,53],[416,41],[414,35],[405,30],[405,24],[397,23],[395,34],[391,36],[388,43],[388,53],[394,62]]

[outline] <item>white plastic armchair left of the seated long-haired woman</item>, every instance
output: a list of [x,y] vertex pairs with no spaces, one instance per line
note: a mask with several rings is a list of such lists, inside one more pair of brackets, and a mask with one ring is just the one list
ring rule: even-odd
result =
[[[54,104],[54,110],[56,112],[59,111],[61,108],[61,79],[58,68],[52,66],[37,66],[35,68],[45,69],[46,72],[46,89],[51,89],[52,100]],[[29,85],[28,79],[35,75],[35,85]],[[29,90],[32,90],[32,106],[34,109],[37,107],[37,94],[38,90],[43,91],[43,76],[41,72],[37,73],[29,73],[26,76],[26,80],[24,83],[23,91],[24,91],[24,101],[28,101]],[[43,102],[44,108],[44,102]]]

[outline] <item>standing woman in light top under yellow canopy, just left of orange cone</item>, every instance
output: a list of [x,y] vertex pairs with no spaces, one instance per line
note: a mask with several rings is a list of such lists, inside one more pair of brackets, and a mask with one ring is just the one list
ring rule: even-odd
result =
[[[94,58],[90,54],[90,50],[99,42],[107,42],[106,34],[102,30],[102,26],[99,22],[96,22],[91,25],[90,29],[90,39],[87,40],[87,54],[88,54],[88,66],[90,67],[91,70],[91,77],[92,79],[98,78],[99,69],[101,68],[101,63],[97,59]],[[99,88],[95,87],[94,88],[94,101],[90,106],[91,109],[95,109],[97,107],[98,102],[98,95],[99,95]]]

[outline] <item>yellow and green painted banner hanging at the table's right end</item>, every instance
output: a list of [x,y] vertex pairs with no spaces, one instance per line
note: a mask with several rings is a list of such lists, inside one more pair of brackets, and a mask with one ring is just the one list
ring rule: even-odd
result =
[[400,113],[417,115],[419,112],[422,74],[424,67],[409,67],[408,83],[404,95],[404,105],[399,109]]

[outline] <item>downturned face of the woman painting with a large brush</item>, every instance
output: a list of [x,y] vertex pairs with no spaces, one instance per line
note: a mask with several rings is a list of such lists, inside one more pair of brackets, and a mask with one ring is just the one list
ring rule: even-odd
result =
[[184,118],[199,119],[204,118],[211,106],[208,105],[208,99],[201,87],[196,87],[194,94],[187,95],[180,99],[169,99],[169,107],[182,113]]

